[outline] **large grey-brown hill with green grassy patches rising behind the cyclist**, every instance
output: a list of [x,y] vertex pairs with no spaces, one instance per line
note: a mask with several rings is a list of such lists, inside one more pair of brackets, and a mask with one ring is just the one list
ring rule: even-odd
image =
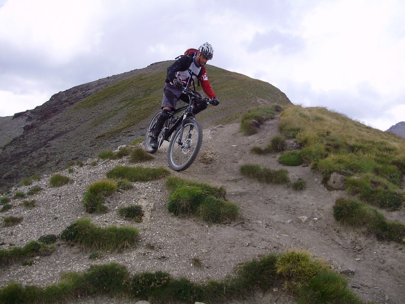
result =
[[[75,86],[32,110],[2,118],[0,189],[143,136],[148,120],[160,107],[171,62],[156,62]],[[286,94],[268,83],[215,66],[208,70],[221,105],[199,114],[203,125],[232,123],[250,106],[292,104]]]

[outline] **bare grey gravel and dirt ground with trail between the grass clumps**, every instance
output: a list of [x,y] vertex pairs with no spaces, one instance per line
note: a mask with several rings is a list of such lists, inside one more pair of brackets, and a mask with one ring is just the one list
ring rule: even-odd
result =
[[[345,192],[328,191],[316,171],[307,166],[281,166],[277,162],[278,154],[250,153],[253,146],[264,147],[278,134],[278,120],[267,122],[252,136],[241,135],[238,124],[203,128],[205,133],[199,156],[207,154],[214,162],[204,164],[197,159],[186,171],[171,171],[172,175],[224,186],[227,199],[241,208],[238,221],[208,225],[194,218],[169,214],[166,209],[169,192],[162,180],[135,183],[133,189],[109,198],[107,214],[84,212],[81,198],[86,187],[94,180],[104,178],[105,173],[118,164],[131,165],[123,159],[102,162],[96,167],[75,168],[71,175],[74,184],[60,188],[49,188],[47,177],[44,177],[38,185],[45,191],[35,198],[35,208],[26,210],[19,206],[4,214],[23,212],[24,221],[12,228],[1,227],[0,241],[22,246],[27,240],[41,235],[60,233],[80,216],[90,216],[98,225],[128,225],[128,221],[116,214],[116,208],[138,203],[148,211],[142,223],[133,223],[141,231],[140,244],[123,253],[107,253],[96,262],[117,262],[125,265],[130,273],[161,270],[173,276],[204,281],[232,275],[239,262],[260,255],[280,253],[287,248],[304,248],[327,260],[337,271],[348,273],[350,288],[365,302],[405,302],[403,245],[379,242],[340,226],[334,220],[332,210],[336,198]],[[153,161],[142,165],[169,168],[166,146],[154,157]],[[239,168],[247,163],[272,169],[285,168],[291,180],[302,178],[307,187],[297,192],[287,185],[262,184],[242,177]],[[62,173],[67,174],[67,171]],[[395,216],[405,221],[403,208]],[[41,286],[54,284],[63,272],[86,270],[95,262],[88,256],[77,248],[61,244],[51,256],[38,259],[31,267],[16,264],[0,270],[0,282],[2,285],[13,280]],[[193,257],[201,260],[201,268],[192,266]],[[123,301],[90,298],[71,303],[118,302]],[[273,302],[294,303],[291,295],[278,290],[265,295],[258,293],[254,298],[232,304]]]

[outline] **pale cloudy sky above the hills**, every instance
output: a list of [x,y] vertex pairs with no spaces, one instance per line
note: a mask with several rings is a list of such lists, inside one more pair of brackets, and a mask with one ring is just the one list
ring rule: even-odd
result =
[[386,130],[405,121],[404,15],[403,0],[0,0],[0,117],[209,42],[209,64]]

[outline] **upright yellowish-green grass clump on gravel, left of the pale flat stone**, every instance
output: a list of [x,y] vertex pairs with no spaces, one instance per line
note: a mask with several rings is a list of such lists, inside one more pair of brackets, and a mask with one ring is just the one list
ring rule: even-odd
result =
[[112,179],[103,179],[92,183],[83,196],[83,206],[86,212],[106,212],[108,208],[103,205],[104,199],[114,193],[117,188],[117,183]]

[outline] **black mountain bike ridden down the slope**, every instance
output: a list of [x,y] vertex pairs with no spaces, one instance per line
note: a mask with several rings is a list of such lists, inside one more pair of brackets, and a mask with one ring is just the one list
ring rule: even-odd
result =
[[[203,142],[203,128],[195,120],[192,112],[194,103],[210,104],[209,98],[201,98],[190,89],[184,89],[183,93],[188,95],[190,102],[169,112],[169,118],[157,137],[158,148],[165,140],[169,141],[168,162],[170,168],[175,171],[183,171],[190,167]],[[160,109],[153,114],[145,133],[145,149],[151,154],[158,149],[152,148],[149,140],[161,112]]]

